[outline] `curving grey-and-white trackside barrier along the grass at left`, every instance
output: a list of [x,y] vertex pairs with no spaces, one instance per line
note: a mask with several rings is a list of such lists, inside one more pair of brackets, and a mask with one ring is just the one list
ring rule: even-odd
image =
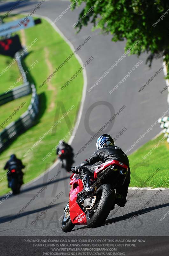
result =
[[[19,53],[16,54],[16,57],[18,57],[18,56],[19,56]],[[4,94],[3,94],[3,96],[0,95],[0,105],[2,105],[1,102],[6,103],[6,102],[10,101],[9,100],[10,98],[11,98],[11,100],[17,99],[17,98],[23,97],[31,92],[32,92],[32,98],[31,98],[31,103],[28,106],[27,111],[25,111],[25,113],[22,114],[17,121],[11,122],[9,125],[6,126],[6,128],[2,132],[0,132],[0,152],[2,152],[5,149],[5,147],[11,143],[12,140],[17,138],[21,133],[25,132],[32,125],[35,124],[35,119],[39,112],[39,99],[38,99],[38,95],[36,93],[35,86],[34,86],[34,84],[32,84],[30,86],[29,82],[26,79],[26,76],[24,77],[25,72],[21,65],[20,57],[18,57],[16,59],[17,59],[18,66],[19,66],[21,75],[23,76],[23,80],[24,80],[25,84],[15,87],[13,90],[11,90],[9,92],[9,94],[7,93],[8,97],[6,97],[6,98],[4,97]],[[5,94],[5,95],[7,95],[7,94]],[[1,96],[2,96],[2,98],[1,98]]]

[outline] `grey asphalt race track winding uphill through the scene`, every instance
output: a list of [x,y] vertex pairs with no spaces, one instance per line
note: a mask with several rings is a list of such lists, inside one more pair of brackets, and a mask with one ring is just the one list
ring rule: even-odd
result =
[[[0,10],[4,12],[9,10],[10,4],[12,3],[1,3]],[[37,4],[38,1],[25,1],[18,6],[16,12],[31,12],[32,8]],[[70,3],[65,0],[47,1],[36,13],[46,16],[51,20],[55,20],[60,13],[67,8],[68,4]],[[86,67],[88,90],[95,81],[123,55],[125,44],[124,42],[114,43],[111,41],[111,36],[100,35],[99,31],[91,32],[90,25],[87,28],[83,28],[79,34],[75,34],[72,24],[77,21],[79,12],[80,10],[74,12],[69,10],[56,22],[56,25],[74,45],[74,48],[77,48],[88,36],[91,36],[90,40],[78,52],[83,63],[85,63],[90,56],[94,58]],[[111,126],[111,128],[108,127],[109,130],[104,130],[104,132],[109,132],[113,137],[116,137],[116,134],[118,134],[123,127],[126,127],[127,131],[116,140],[116,145],[121,147],[124,151],[130,148],[139,136],[168,109],[166,93],[159,93],[159,91],[165,87],[163,72],[160,72],[156,79],[144,88],[142,92],[138,92],[140,87],[142,87],[155,71],[162,66],[160,60],[154,60],[152,68],[148,68],[148,66],[145,65],[146,57],[147,55],[144,54],[138,59],[136,56],[124,58],[91,92],[86,92],[80,124],[72,142],[75,153],[88,142],[90,137],[94,135],[101,126],[109,121],[111,113],[108,106],[110,106],[110,104],[115,109],[115,113],[125,106],[123,111],[116,116],[113,127]],[[124,83],[119,85],[116,91],[110,94],[109,91],[118,84],[139,60],[142,60],[143,63],[133,71],[130,77],[127,77]],[[96,107],[91,111],[88,120],[87,116],[93,103],[96,103]],[[156,111],[154,109],[156,109]],[[90,128],[88,128],[88,124]],[[157,124],[130,152],[139,148],[159,132],[160,127]],[[94,151],[95,140],[75,158],[75,165],[88,158]],[[142,160],[140,159],[140,164],[141,163]],[[50,172],[47,172],[34,182],[25,185],[19,196],[10,196],[3,202],[0,212],[1,236],[169,235],[168,226],[166,225],[166,222],[168,223],[167,218],[163,221],[159,221],[159,219],[169,211],[169,190],[162,190],[160,192],[157,192],[157,190],[140,190],[128,201],[124,208],[118,210],[118,207],[116,207],[115,211],[110,213],[109,218],[103,226],[96,229],[88,228],[87,226],[76,226],[69,234],[63,233],[60,227],[60,219],[63,214],[63,208],[68,201],[70,176],[64,170],[61,170],[62,172],[52,181],[51,185],[48,185],[44,192],[27,206],[24,212],[17,215],[23,206],[29,202],[42,187],[46,186],[48,180],[52,179],[60,170],[60,165],[55,165]],[[63,195],[59,199],[56,199],[55,196],[59,195],[61,191]],[[134,190],[129,190],[128,195],[130,196],[133,192]],[[146,204],[152,196],[154,199],[151,200],[148,206],[144,207],[144,204]],[[53,204],[48,209],[48,205],[51,202],[53,202]],[[142,207],[144,209],[140,210]],[[44,210],[46,210],[45,213],[34,225],[31,225],[30,223]]]

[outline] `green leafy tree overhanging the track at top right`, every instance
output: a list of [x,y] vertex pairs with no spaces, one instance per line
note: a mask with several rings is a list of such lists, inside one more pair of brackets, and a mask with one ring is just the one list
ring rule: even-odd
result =
[[[78,32],[89,22],[94,29],[112,34],[112,41],[127,39],[125,51],[139,56],[149,53],[147,62],[165,55],[169,61],[169,1],[168,0],[71,0],[72,9],[83,2],[86,6],[76,22]],[[138,41],[139,40],[139,41]]]

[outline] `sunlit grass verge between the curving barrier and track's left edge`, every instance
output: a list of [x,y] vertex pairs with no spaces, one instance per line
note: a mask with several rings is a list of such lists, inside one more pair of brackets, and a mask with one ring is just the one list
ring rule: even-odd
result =
[[[18,16],[18,18],[20,17],[21,16]],[[80,68],[78,60],[72,57],[71,60],[51,78],[50,86],[46,84],[39,89],[38,86],[71,54],[72,50],[46,20],[42,20],[42,23],[35,27],[25,29],[25,35],[26,45],[31,44],[35,38],[38,38],[38,41],[33,44],[32,48],[29,50],[30,54],[23,61],[23,65],[25,69],[27,69],[34,61],[37,60],[39,62],[31,69],[27,77],[37,88],[40,100],[40,113],[37,118],[37,124],[19,136],[11,146],[1,154],[0,177],[4,174],[3,167],[5,162],[12,153],[15,153],[18,158],[26,164],[24,181],[28,182],[44,172],[46,167],[53,163],[56,158],[55,152],[53,152],[51,157],[46,161],[42,161],[42,158],[46,156],[46,154],[58,144],[59,140],[74,126],[83,89],[83,76],[82,73],[79,74],[64,90],[61,91],[59,89]],[[49,71],[49,67],[46,63],[46,51],[49,52],[48,55],[49,61],[52,64],[52,72]],[[66,118],[63,119],[61,123],[57,125],[56,132],[54,134],[48,134],[24,158],[24,153],[27,152],[39,137],[53,125],[54,121],[57,121],[63,115],[63,112],[65,112],[57,110],[59,113],[55,120],[56,108],[57,105],[60,104],[59,102],[64,104],[65,111],[72,105],[75,106],[68,115],[70,123],[67,125]],[[0,182],[0,191],[1,194],[9,191],[6,179]]]

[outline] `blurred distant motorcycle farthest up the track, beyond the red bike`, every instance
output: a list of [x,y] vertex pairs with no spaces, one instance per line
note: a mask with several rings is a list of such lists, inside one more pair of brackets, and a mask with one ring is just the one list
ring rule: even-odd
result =
[[72,164],[74,163],[72,153],[70,154],[67,149],[61,149],[58,152],[58,156],[62,162],[62,167],[69,172],[72,168]]

